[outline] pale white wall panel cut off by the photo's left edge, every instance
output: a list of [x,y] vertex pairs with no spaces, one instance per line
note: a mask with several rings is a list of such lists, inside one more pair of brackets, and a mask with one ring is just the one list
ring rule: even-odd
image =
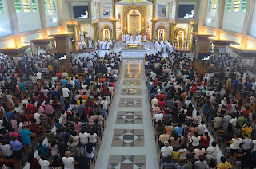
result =
[[[7,0],[2,0],[3,13],[0,13],[0,37],[9,35],[12,33],[10,26],[9,11],[7,6]],[[8,0],[9,1],[9,0]]]

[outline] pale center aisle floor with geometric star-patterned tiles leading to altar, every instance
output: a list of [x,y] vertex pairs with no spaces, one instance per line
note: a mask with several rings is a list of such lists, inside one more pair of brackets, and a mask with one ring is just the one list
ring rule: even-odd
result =
[[95,168],[159,168],[143,61],[120,73]]

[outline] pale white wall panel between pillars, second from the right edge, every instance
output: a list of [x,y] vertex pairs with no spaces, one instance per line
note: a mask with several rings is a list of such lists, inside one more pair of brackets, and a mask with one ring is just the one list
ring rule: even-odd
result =
[[224,17],[223,17],[223,23],[222,23],[222,29],[234,31],[237,33],[242,33],[242,27],[245,20],[245,12],[241,12],[241,5],[239,12],[226,12],[226,5],[225,4],[225,10],[224,10]]

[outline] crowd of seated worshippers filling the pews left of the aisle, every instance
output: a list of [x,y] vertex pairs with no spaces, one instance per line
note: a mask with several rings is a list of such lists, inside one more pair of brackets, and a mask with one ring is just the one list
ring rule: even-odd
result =
[[10,57],[1,58],[4,164],[31,169],[94,166],[122,56],[81,53],[70,60],[70,73],[60,73],[51,54],[25,54],[18,65]]

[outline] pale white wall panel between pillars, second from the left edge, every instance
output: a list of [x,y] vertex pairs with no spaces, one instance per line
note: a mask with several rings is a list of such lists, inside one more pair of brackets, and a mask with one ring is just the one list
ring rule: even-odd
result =
[[17,13],[18,28],[20,32],[42,29],[38,8],[38,0],[36,0],[36,3],[37,12],[23,12],[24,10],[22,6],[22,12]]

